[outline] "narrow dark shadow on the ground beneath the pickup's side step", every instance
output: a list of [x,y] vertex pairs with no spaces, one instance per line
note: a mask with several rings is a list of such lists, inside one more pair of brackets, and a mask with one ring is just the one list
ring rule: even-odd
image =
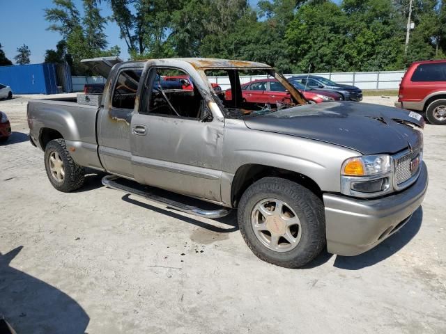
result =
[[[144,209],[149,209],[153,212],[157,212],[159,214],[164,214],[165,216],[169,216],[171,218],[176,218],[180,221],[184,221],[186,223],[190,223],[192,225],[198,226],[199,228],[206,228],[206,230],[210,230],[212,232],[217,233],[230,233],[230,232],[236,232],[238,231],[238,223],[237,223],[237,215],[236,212],[233,211],[228,216],[224,216],[222,218],[216,218],[212,219],[213,221],[218,221],[220,223],[224,223],[225,225],[232,226],[231,228],[219,228],[218,226],[205,223],[203,221],[199,221],[198,219],[190,218],[189,216],[186,216],[186,214],[183,214],[183,212],[180,212],[180,214],[177,214],[176,212],[172,212],[170,210],[175,210],[171,207],[166,207],[166,209],[160,209],[159,207],[155,207],[153,205],[140,202],[139,200],[134,200],[133,198],[130,198],[130,195],[124,195],[122,197],[124,202],[128,202],[132,205],[138,205],[139,207],[144,207]],[[206,219],[209,220],[209,219]]]

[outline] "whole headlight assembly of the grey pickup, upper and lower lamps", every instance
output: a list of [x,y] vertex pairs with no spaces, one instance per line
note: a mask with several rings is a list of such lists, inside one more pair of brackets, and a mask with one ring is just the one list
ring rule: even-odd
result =
[[353,157],[341,168],[341,193],[370,198],[392,191],[392,157],[387,154]]

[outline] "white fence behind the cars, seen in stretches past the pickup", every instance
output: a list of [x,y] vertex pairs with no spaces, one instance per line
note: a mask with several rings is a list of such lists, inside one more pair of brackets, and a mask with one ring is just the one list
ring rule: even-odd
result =
[[[285,74],[285,77],[293,77],[301,74]],[[333,72],[333,73],[312,73],[338,84],[357,86],[361,89],[398,89],[404,71],[385,72]],[[256,79],[264,79],[266,76],[243,76],[240,77],[242,84]],[[222,87],[222,90],[231,88],[228,77],[209,77],[209,81],[215,82]],[[84,84],[105,84],[102,77],[72,77],[72,88],[75,92],[84,90]]]

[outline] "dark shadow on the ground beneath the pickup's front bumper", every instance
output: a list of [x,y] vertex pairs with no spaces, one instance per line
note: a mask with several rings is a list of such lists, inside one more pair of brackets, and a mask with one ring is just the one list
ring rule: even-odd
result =
[[378,246],[368,250],[366,253],[356,256],[341,256],[328,253],[327,249],[322,251],[316,259],[309,264],[305,265],[301,269],[313,269],[322,264],[325,264],[333,256],[336,256],[333,267],[346,270],[359,270],[366,267],[371,267],[378,262],[381,262],[387,257],[391,257],[395,253],[399,252],[401,248],[406,246],[410,240],[415,237],[420,230],[423,220],[423,209],[419,207],[414,213],[410,221],[401,228],[398,232],[385,239]]

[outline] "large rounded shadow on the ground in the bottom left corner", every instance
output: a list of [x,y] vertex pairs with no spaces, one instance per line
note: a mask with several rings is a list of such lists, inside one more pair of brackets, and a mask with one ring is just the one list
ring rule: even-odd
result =
[[90,318],[70,296],[10,267],[22,246],[0,253],[0,317],[17,333],[85,333]]

